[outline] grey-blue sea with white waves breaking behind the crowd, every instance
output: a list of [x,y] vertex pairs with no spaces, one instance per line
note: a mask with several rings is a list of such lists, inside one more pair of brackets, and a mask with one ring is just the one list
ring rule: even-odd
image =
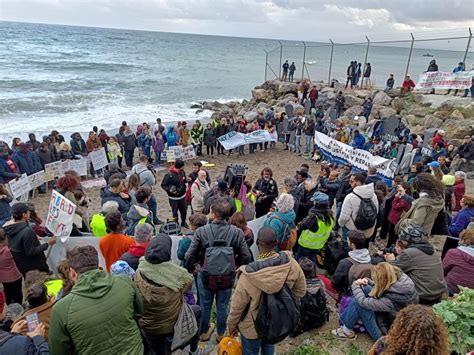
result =
[[[281,58],[295,62],[295,78],[304,71],[312,81],[328,80],[329,45],[306,42],[305,51],[302,42],[282,43]],[[431,59],[440,70],[452,70],[464,55],[423,45],[413,50],[415,79]],[[269,39],[0,22],[0,137],[85,133],[94,125],[113,130],[124,120],[207,118],[210,111],[190,106],[250,99],[265,69],[267,79],[278,77],[278,46]],[[382,87],[390,73],[400,84],[408,52],[407,43],[370,46],[372,84]],[[345,81],[349,62],[363,62],[365,54],[363,44],[335,46],[331,78]]]

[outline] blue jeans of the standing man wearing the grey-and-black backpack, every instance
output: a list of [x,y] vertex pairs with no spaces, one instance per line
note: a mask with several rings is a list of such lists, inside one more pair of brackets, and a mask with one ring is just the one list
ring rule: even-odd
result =
[[204,286],[203,275],[200,272],[197,277],[199,305],[201,306],[202,321],[201,334],[209,330],[209,323],[211,321],[212,304],[214,303],[214,296],[216,298],[217,310],[217,334],[223,335],[227,328],[227,316],[229,314],[230,296],[232,295],[232,288],[227,290],[211,291]]

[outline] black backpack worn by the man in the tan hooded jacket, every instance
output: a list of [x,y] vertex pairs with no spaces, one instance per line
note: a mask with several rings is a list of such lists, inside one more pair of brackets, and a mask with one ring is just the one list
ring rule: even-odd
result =
[[259,339],[267,344],[279,343],[296,329],[299,315],[293,292],[286,283],[272,295],[262,292],[254,321]]

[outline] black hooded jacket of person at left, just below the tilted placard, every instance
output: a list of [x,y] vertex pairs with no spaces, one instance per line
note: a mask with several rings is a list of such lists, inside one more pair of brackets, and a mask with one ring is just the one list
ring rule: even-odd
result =
[[48,243],[40,244],[28,222],[6,224],[3,229],[15,264],[23,276],[30,270],[49,272],[44,255]]

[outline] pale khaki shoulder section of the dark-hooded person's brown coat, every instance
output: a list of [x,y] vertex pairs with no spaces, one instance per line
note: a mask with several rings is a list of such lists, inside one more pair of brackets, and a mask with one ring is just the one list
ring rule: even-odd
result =
[[137,271],[140,271],[141,274],[154,283],[168,287],[174,292],[182,290],[193,280],[193,276],[185,268],[176,265],[172,261],[152,264],[142,257]]

